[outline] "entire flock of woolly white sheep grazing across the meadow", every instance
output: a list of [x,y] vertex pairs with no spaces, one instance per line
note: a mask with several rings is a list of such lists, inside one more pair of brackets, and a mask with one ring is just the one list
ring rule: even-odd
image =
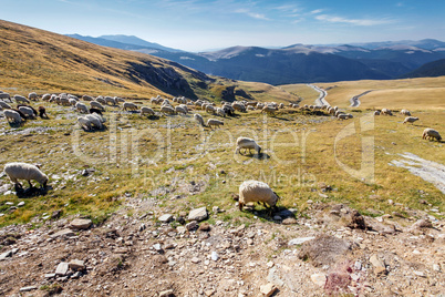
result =
[[[12,99],[17,103],[17,107],[12,107],[10,103],[12,103]],[[6,101],[9,101],[6,102]],[[4,116],[8,122],[13,122],[21,124],[23,121],[29,119],[35,119],[37,115],[41,117],[46,117],[46,112],[44,106],[39,106],[39,111],[30,105],[31,101],[39,101],[39,96],[37,93],[32,92],[28,95],[28,99],[22,95],[14,95],[11,98],[8,93],[0,91],[0,107],[3,110]],[[236,101],[232,103],[225,102],[220,106],[217,106],[215,103],[197,100],[192,101],[187,100],[184,96],[174,98],[172,100],[163,99],[159,95],[156,98],[152,98],[149,103],[152,107],[141,106],[133,102],[126,102],[124,99],[118,96],[90,96],[83,95],[81,99],[72,95],[72,94],[43,94],[42,101],[48,103],[55,103],[63,106],[73,106],[76,112],[80,113],[77,116],[77,124],[84,129],[85,131],[93,131],[95,129],[102,130],[104,129],[105,119],[103,117],[103,112],[105,112],[105,106],[107,107],[117,107],[122,111],[132,111],[138,112],[141,116],[153,116],[157,113],[154,110],[155,105],[159,106],[161,115],[176,115],[176,114],[189,114],[192,111],[201,110],[210,115],[219,116],[220,119],[210,117],[207,120],[207,123],[204,121],[201,114],[194,112],[193,116],[198,124],[201,126],[220,126],[224,125],[222,117],[232,116],[236,112],[248,112],[260,110],[261,113],[267,113],[275,115],[276,112],[280,109],[284,109],[283,103],[275,103],[275,102],[247,102],[247,101]],[[175,103],[175,105],[173,103]],[[122,105],[121,105],[122,104]],[[323,114],[334,115],[338,120],[348,120],[352,119],[352,114],[344,113],[340,111],[337,106],[329,105],[303,105],[300,106],[294,103],[289,103],[289,107],[293,110],[300,111],[320,111]],[[382,109],[381,111],[375,111],[374,115],[393,115],[392,111],[389,109]],[[403,123],[414,123],[418,120],[418,117],[411,116],[411,112],[406,110],[401,111],[402,115],[406,115]],[[425,129],[422,139],[435,139],[441,141],[442,137],[439,133],[434,129]],[[258,155],[261,154],[261,146],[256,143],[255,140],[248,137],[238,137],[237,146],[235,153],[240,153],[241,150],[247,151],[253,150]],[[30,187],[32,188],[31,181],[37,181],[43,187],[48,183],[48,176],[40,171],[40,168],[32,164],[27,163],[8,163],[4,166],[4,172],[10,177],[11,182],[14,183],[17,190],[20,190],[22,185],[18,182],[18,180],[25,180],[29,182]],[[275,193],[269,185],[258,182],[258,181],[247,181],[244,182],[239,186],[239,209],[242,209],[244,205],[250,202],[262,202],[266,206],[275,207],[279,196]]]

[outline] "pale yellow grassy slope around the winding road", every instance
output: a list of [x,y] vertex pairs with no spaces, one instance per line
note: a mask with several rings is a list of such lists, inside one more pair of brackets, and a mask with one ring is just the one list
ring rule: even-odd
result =
[[[445,109],[445,76],[420,78],[393,81],[350,81],[334,83],[315,83],[328,90],[327,100],[339,107],[350,106],[349,99],[368,90],[374,90],[360,98],[363,109],[408,109],[408,110],[444,110]],[[313,104],[318,93],[306,84],[281,85],[288,92],[298,95],[309,95]],[[304,96],[306,98],[306,96]]]

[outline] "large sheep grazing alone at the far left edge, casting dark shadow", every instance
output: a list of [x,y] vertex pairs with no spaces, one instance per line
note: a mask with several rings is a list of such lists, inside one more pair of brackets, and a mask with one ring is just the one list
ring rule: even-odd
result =
[[35,165],[21,162],[8,163],[4,165],[4,173],[14,183],[15,188],[22,187],[18,180],[28,181],[30,187],[33,187],[31,181],[37,181],[43,188],[46,187],[48,176]]

